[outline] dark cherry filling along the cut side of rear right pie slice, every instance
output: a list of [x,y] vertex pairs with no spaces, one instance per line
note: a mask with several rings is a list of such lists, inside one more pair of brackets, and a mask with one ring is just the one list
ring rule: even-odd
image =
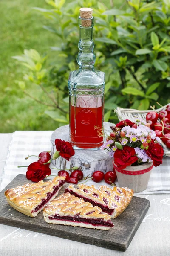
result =
[[[106,212],[109,215],[112,215],[112,213],[114,212],[114,209],[110,209],[108,206],[104,206],[104,205],[102,205],[102,204],[100,204],[98,202],[95,202],[92,199],[86,198],[86,197],[84,197],[82,195],[80,196],[80,195],[78,195],[77,193],[73,192],[72,190],[70,190],[68,188],[65,189],[65,193],[67,193],[67,192],[69,192],[71,195],[77,196],[78,198],[82,198],[85,202],[89,202],[89,203],[93,204],[93,206],[100,207],[102,209],[102,212]],[[106,203],[106,200],[107,200],[106,198],[103,199],[103,201],[105,203]]]

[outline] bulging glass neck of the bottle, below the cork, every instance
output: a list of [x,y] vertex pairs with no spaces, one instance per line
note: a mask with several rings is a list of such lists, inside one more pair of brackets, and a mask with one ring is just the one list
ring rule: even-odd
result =
[[91,21],[91,26],[84,27],[82,26],[83,19],[79,17],[80,41],[78,44],[79,53],[77,56],[77,63],[80,68],[93,68],[96,59],[93,41],[94,17],[89,20]]

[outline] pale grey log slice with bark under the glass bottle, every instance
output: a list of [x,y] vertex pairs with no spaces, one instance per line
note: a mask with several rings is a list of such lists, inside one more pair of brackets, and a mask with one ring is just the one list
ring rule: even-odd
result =
[[[105,122],[105,132],[111,132],[111,123]],[[55,139],[69,141],[69,125],[61,126],[51,135],[51,156],[56,151]],[[84,176],[92,175],[94,171],[108,172],[113,170],[112,158],[108,156],[105,150],[84,150],[75,149],[75,154],[70,161],[59,157],[52,163],[57,169],[69,169],[74,166],[81,166]],[[54,170],[55,172],[55,170]],[[56,170],[57,173],[57,170]]]

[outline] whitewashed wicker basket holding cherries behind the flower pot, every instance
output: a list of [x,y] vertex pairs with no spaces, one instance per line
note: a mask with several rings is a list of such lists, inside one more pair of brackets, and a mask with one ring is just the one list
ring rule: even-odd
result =
[[[167,104],[169,105],[169,104]],[[159,112],[163,109],[165,109],[167,107],[167,105],[165,105],[164,107],[161,107],[159,109],[156,109],[154,111]],[[139,117],[139,118],[143,118],[144,120],[146,119],[146,115],[148,112],[150,112],[150,110],[137,110],[137,109],[129,109],[129,108],[116,108],[115,112],[119,118],[119,120],[125,120],[125,119],[129,119],[131,121],[135,120],[135,117]],[[165,157],[170,157],[170,150],[167,148],[167,146],[161,142],[162,147],[164,148],[164,156]]]

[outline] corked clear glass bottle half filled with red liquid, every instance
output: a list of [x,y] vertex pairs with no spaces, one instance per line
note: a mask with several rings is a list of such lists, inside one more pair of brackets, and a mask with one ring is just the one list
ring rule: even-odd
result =
[[105,73],[94,68],[94,17],[91,8],[81,8],[79,69],[68,79],[70,142],[75,149],[97,150],[103,144]]

